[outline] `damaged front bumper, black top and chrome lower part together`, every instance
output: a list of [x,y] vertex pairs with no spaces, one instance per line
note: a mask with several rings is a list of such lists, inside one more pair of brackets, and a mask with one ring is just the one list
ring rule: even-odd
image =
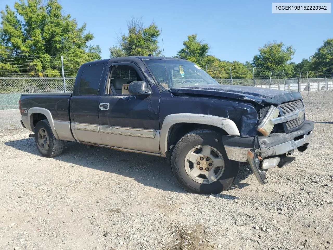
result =
[[222,136],[222,142],[230,160],[246,162],[248,161],[247,153],[249,150],[253,149],[254,145],[256,145],[255,152],[257,152],[261,158],[283,155],[308,143],[313,135],[313,128],[313,122],[306,120],[304,125],[295,132],[258,136],[260,148],[255,137],[225,135]]

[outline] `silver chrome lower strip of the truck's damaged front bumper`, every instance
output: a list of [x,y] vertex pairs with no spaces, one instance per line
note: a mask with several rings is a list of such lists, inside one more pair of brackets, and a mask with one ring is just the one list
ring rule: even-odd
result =
[[[261,148],[260,156],[262,158],[266,158],[268,156],[285,154],[309,142],[312,136],[313,136],[313,131],[310,131],[308,135],[303,135],[303,138],[297,141],[291,140],[269,148]],[[233,146],[224,146],[224,148],[230,160],[239,161],[239,162],[246,162],[248,160],[247,152],[251,149],[251,148],[233,147]],[[260,153],[260,149],[255,149],[255,151]]]

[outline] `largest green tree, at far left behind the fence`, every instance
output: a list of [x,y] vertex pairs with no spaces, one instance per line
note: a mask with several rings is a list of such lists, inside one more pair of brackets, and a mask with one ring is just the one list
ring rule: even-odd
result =
[[0,73],[60,76],[63,55],[67,76],[75,76],[82,63],[101,59],[101,48],[89,45],[93,34],[61,14],[57,0],[20,0],[1,11]]

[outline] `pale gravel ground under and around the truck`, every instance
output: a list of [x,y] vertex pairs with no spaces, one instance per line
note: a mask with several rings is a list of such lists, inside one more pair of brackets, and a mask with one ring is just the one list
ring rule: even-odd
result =
[[234,186],[213,196],[184,191],[164,158],[70,142],[43,158],[28,130],[7,124],[0,249],[331,249],[332,99],[304,95],[312,142],[269,170],[268,184],[244,165]]

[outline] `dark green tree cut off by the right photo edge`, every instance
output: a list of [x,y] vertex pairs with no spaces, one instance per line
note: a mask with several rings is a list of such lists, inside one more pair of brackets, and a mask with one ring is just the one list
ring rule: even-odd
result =
[[333,38],[324,41],[323,45],[310,57],[310,62],[310,68],[313,71],[333,71]]

